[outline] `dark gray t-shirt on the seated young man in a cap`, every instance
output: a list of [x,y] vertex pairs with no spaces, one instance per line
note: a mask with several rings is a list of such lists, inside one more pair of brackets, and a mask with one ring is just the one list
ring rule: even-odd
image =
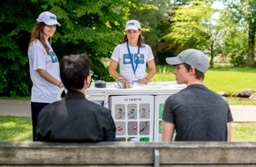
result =
[[175,141],[227,141],[227,123],[233,118],[220,95],[192,84],[167,98],[162,120],[175,124]]

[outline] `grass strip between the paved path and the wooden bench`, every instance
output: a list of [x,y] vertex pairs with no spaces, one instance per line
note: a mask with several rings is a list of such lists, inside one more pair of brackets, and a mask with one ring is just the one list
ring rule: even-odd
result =
[[[28,117],[0,116],[0,142],[32,141]],[[256,123],[232,123],[232,142],[256,142]]]

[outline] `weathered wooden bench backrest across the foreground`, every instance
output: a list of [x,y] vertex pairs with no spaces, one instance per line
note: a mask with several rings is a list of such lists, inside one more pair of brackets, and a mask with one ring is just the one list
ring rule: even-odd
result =
[[256,142],[0,142],[5,166],[255,166]]

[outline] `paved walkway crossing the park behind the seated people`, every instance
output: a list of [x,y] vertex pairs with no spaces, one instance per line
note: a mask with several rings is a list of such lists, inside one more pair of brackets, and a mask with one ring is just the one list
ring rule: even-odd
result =
[[[230,105],[235,122],[256,122],[256,105]],[[30,117],[30,101],[0,100],[0,115]]]

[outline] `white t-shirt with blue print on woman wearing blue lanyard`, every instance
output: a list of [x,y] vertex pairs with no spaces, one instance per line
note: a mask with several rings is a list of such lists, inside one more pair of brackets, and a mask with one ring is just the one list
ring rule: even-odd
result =
[[[127,48],[127,42],[117,45],[115,47],[111,59],[119,63],[120,75],[131,81],[138,81],[147,76],[147,62],[154,59],[154,55],[151,47],[144,44],[145,47],[139,47],[139,56],[138,56],[138,47],[131,47],[130,55]],[[131,61],[131,58],[132,61]],[[132,68],[132,63],[134,70]],[[136,68],[137,67],[137,68]]]

